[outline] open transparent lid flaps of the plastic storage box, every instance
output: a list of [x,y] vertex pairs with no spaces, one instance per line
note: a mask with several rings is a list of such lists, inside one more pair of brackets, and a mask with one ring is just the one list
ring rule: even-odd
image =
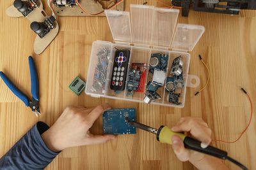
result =
[[115,43],[193,50],[205,28],[177,24],[179,10],[131,4],[130,12],[105,10]]

